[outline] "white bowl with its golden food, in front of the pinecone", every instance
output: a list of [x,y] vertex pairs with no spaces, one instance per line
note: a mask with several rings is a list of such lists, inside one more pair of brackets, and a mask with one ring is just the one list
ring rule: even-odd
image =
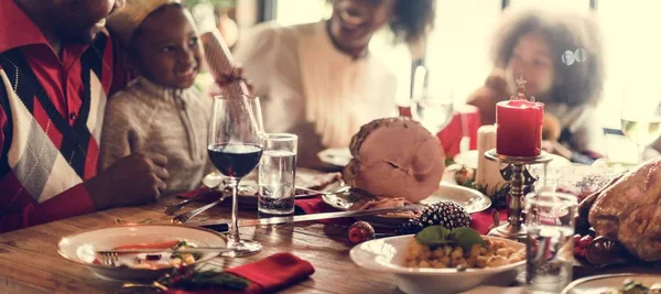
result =
[[391,273],[409,294],[458,293],[510,285],[525,263],[525,244],[469,228],[427,227],[416,235],[377,239],[350,251],[360,268]]

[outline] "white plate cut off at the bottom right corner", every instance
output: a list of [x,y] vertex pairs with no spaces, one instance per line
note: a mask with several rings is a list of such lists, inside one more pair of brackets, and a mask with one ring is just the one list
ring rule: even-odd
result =
[[624,273],[589,276],[574,281],[562,291],[562,294],[602,294],[610,288],[621,288],[625,280],[640,282],[649,287],[654,283],[661,283],[661,275]]

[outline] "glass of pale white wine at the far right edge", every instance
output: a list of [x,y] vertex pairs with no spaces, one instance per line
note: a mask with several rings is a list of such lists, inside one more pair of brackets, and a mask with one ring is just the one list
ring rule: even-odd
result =
[[[629,90],[622,99],[622,133],[638,145],[639,163],[644,161],[644,150],[661,135],[661,94]],[[640,97],[640,98],[636,98]]]

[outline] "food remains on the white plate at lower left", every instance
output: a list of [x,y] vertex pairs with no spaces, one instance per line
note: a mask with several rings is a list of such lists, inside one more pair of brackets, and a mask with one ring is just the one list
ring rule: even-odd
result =
[[[165,268],[178,268],[181,265],[191,265],[202,258],[202,253],[169,253],[170,250],[195,248],[194,244],[186,241],[171,240],[154,243],[131,243],[112,248],[112,250],[130,250],[130,249],[162,249],[163,252],[154,253],[119,253],[119,262],[116,266],[129,266],[133,269],[158,270]],[[127,257],[127,258],[123,258]],[[94,261],[95,264],[101,264],[99,259]]]

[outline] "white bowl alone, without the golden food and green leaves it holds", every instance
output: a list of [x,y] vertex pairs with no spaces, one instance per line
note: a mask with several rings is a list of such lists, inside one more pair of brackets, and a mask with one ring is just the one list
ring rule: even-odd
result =
[[[525,244],[502,240],[516,250]],[[519,270],[525,261],[494,268],[469,269],[458,272],[456,269],[412,269],[404,266],[404,258],[409,246],[414,241],[413,235],[377,239],[357,244],[349,255],[354,263],[369,271],[394,274],[400,290],[410,294],[418,293],[458,293],[479,285],[507,286],[517,279]]]

